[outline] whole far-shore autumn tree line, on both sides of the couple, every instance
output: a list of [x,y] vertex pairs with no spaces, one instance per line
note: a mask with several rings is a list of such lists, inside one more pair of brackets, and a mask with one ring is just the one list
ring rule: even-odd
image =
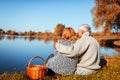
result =
[[[63,24],[57,24],[56,27],[54,28],[54,32],[48,32],[48,31],[45,31],[45,32],[35,32],[35,31],[32,31],[30,30],[29,32],[16,32],[16,31],[13,31],[13,30],[7,30],[7,31],[4,31],[2,29],[0,29],[0,35],[12,35],[12,36],[15,36],[15,35],[18,35],[18,36],[34,36],[34,37],[40,37],[40,36],[46,36],[46,37],[56,37],[56,36],[62,36],[62,32],[65,28],[65,25]],[[94,32],[92,33],[94,36],[114,36],[114,35],[120,35],[120,32],[106,32],[106,31],[99,31],[99,32]]]

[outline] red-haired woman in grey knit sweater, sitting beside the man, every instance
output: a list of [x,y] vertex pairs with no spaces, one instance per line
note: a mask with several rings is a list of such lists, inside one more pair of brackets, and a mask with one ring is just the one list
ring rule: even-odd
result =
[[[60,43],[67,46],[73,44],[75,40],[76,36],[74,30],[70,27],[65,28]],[[57,50],[55,50],[53,55],[54,56],[47,61],[48,75],[55,74],[69,75],[74,73],[78,62],[77,57],[69,58],[67,56],[64,56]]]

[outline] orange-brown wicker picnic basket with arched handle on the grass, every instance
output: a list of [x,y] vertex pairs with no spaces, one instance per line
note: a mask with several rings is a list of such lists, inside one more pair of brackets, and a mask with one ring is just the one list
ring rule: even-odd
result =
[[[31,65],[31,62],[35,58],[40,58],[43,61],[43,65],[37,65],[37,64]],[[45,76],[46,70],[47,70],[47,67],[46,67],[46,63],[45,63],[44,59],[40,56],[35,56],[30,59],[28,65],[27,65],[27,76],[30,79],[40,79]]]

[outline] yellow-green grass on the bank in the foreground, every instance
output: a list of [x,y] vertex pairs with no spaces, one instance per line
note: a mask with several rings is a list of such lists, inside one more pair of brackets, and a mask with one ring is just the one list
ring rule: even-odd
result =
[[[105,56],[107,65],[100,69],[96,74],[91,75],[69,75],[58,78],[44,78],[43,80],[120,80],[120,56]],[[25,72],[4,72],[0,75],[0,80],[30,80]]]

